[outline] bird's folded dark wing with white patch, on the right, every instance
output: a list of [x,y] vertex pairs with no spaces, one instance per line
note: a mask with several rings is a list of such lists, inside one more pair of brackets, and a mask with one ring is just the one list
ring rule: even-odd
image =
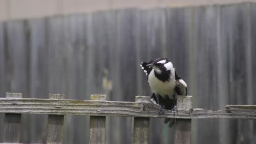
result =
[[175,92],[178,95],[187,95],[187,83],[179,77],[175,70]]

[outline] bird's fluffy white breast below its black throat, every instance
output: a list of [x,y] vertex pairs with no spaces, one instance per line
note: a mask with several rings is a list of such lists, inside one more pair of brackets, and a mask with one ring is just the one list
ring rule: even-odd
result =
[[148,75],[148,83],[150,88],[152,89],[152,92],[156,94],[160,94],[162,97],[168,97],[172,98],[175,87],[175,77],[174,77],[174,69],[171,69],[171,77],[170,81],[162,82],[158,80],[158,78],[155,76],[154,69],[152,69]]

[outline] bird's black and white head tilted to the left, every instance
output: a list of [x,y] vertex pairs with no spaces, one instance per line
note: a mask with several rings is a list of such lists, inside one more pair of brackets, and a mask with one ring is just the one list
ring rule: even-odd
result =
[[154,69],[158,74],[161,74],[163,71],[168,71],[173,68],[172,62],[168,61],[167,58],[158,58],[147,64],[148,67]]

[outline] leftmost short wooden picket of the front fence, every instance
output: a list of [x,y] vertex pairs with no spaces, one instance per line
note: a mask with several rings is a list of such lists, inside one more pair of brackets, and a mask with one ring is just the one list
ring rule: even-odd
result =
[[[22,93],[6,93],[6,98],[22,98]],[[21,113],[5,113],[4,142],[20,142]]]

